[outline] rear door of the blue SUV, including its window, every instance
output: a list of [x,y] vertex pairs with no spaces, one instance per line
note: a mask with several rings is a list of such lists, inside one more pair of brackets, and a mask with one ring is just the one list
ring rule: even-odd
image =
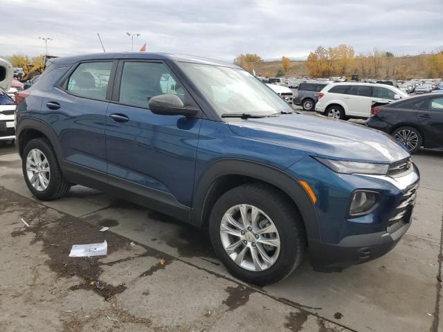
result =
[[67,167],[107,172],[106,111],[115,68],[112,60],[82,62],[42,102],[41,120],[55,131]]

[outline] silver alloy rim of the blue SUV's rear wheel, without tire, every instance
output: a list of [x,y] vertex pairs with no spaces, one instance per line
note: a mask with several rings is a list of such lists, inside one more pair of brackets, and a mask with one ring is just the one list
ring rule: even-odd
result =
[[51,169],[48,158],[39,149],[32,149],[26,157],[26,174],[30,184],[39,192],[43,192],[49,185]]

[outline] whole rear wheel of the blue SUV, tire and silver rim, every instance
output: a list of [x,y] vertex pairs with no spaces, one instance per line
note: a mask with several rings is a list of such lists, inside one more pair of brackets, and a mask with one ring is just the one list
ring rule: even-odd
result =
[[30,140],[21,160],[23,175],[30,192],[37,199],[58,199],[71,188],[60,171],[60,165],[51,144],[44,138]]

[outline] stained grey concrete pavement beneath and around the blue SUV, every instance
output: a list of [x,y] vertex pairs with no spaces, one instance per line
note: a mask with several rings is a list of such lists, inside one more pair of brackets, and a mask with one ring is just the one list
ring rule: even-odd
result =
[[[392,252],[343,273],[305,260],[260,288],[231,277],[204,232],[163,214],[80,186],[35,201],[19,156],[0,152],[0,331],[438,331],[443,153],[413,160],[413,224]],[[104,239],[107,257],[68,257]]]

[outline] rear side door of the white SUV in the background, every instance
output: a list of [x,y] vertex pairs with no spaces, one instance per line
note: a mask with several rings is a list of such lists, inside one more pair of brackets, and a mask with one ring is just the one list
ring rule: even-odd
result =
[[372,86],[350,85],[342,100],[349,110],[348,115],[368,118],[372,106]]

